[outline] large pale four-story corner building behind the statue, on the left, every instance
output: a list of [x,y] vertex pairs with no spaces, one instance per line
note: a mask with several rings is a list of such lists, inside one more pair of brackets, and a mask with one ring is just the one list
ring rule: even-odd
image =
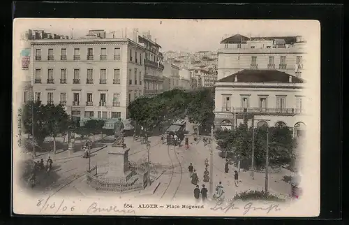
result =
[[129,38],[31,41],[34,97],[64,105],[68,115],[126,119],[144,93],[144,48]]

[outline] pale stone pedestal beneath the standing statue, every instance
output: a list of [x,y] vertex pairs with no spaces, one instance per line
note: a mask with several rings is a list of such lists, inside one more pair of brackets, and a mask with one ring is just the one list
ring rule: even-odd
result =
[[112,150],[108,152],[109,164],[106,178],[121,179],[131,175],[131,170],[128,168],[128,151],[126,145],[112,145]]

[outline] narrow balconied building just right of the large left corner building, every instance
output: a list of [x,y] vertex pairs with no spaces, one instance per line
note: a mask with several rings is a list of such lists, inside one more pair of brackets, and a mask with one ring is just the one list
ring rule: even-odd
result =
[[138,41],[144,46],[144,95],[154,95],[163,92],[163,55],[159,52],[161,45],[151,41],[151,36],[143,34]]

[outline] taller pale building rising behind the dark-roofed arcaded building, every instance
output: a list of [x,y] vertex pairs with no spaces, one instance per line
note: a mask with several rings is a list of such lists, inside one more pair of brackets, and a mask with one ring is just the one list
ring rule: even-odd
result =
[[279,70],[303,78],[305,43],[302,36],[225,38],[218,50],[218,80],[243,69]]

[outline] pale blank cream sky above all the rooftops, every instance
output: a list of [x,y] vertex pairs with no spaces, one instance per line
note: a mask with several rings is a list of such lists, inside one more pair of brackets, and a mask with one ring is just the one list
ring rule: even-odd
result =
[[[16,19],[15,32],[44,29],[54,34],[84,36],[89,29],[128,32],[138,28],[150,31],[151,38],[161,45],[161,51],[214,51],[222,38],[234,34],[244,36],[304,36],[306,40],[320,35],[320,23],[315,20],[161,20],[161,19]],[[318,38],[318,36],[316,37]]]

